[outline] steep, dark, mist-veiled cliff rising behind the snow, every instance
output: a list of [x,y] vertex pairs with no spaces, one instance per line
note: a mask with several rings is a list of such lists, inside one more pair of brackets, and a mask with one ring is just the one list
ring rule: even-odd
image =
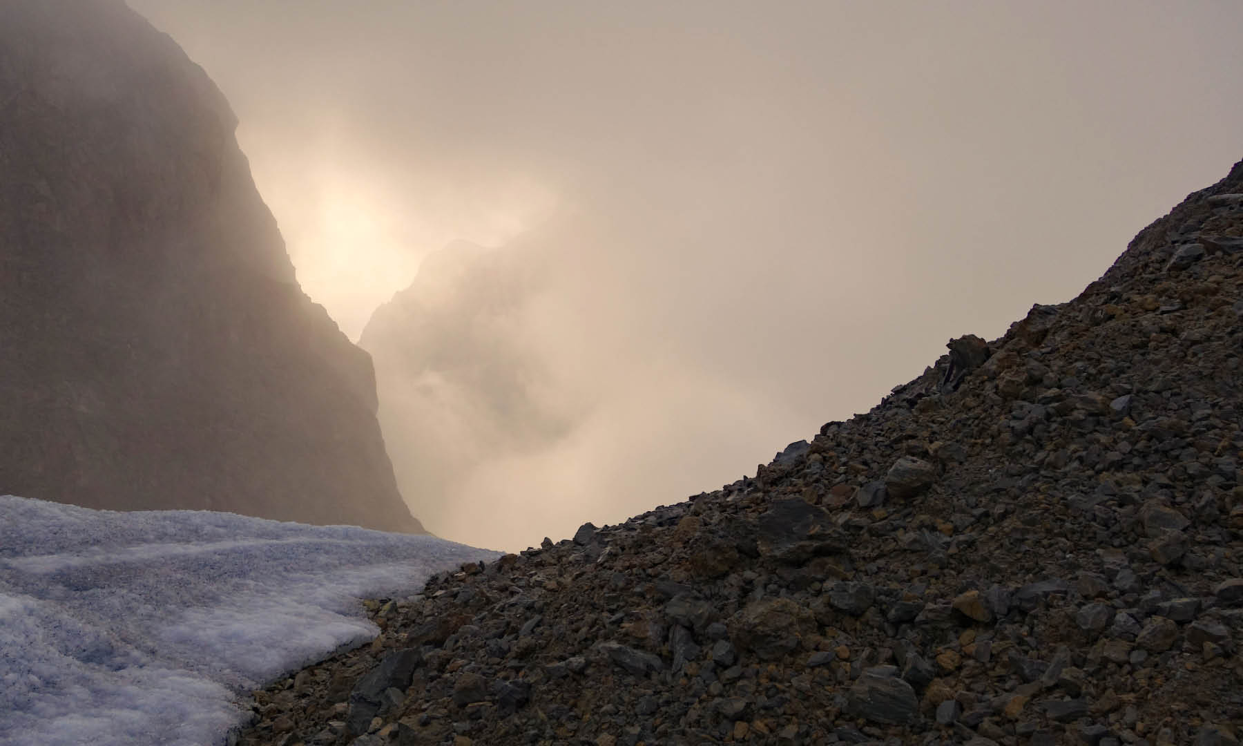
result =
[[235,126],[119,0],[0,6],[0,492],[421,531]]

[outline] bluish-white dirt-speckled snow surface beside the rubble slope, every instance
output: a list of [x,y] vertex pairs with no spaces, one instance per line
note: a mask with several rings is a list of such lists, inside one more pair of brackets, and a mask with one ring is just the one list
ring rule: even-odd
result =
[[349,526],[0,496],[0,744],[222,744],[246,691],[377,634],[359,598],[409,596],[496,556]]

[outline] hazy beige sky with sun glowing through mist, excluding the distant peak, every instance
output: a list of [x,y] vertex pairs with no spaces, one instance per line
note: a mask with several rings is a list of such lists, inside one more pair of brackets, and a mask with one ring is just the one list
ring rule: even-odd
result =
[[1243,157],[1237,0],[129,4],[352,338],[454,239],[574,265],[516,334],[594,414],[440,528],[505,548],[753,472]]

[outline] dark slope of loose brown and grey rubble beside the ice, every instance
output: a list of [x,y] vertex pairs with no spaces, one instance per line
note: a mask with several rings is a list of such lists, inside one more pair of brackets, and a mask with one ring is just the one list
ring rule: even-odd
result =
[[1243,163],[753,477],[373,602],[244,744],[1237,744]]

